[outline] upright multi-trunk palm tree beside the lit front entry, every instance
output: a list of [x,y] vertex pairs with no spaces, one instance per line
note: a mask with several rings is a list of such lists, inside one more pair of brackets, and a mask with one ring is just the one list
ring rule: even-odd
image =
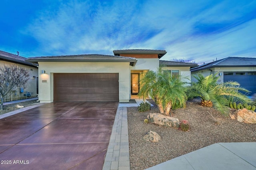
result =
[[170,115],[172,108],[186,106],[186,77],[173,77],[170,72],[160,67],[156,72],[148,71],[140,79],[139,97],[150,96],[155,101],[160,113]]

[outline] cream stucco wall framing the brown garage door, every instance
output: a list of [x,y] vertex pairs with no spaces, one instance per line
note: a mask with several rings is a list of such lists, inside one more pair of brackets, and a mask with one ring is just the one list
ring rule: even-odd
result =
[[[46,74],[41,71],[45,70]],[[39,62],[39,100],[53,102],[54,73],[119,73],[119,101],[130,99],[130,63]],[[47,82],[43,83],[42,80]]]

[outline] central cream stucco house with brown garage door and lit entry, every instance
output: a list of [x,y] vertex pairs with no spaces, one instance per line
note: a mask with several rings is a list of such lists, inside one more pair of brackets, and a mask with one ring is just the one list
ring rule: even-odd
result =
[[[166,69],[190,75],[191,63],[159,61],[166,54],[165,50],[128,49],[113,52],[114,55],[28,58],[26,61],[39,64],[40,102],[128,102],[132,95],[138,94],[140,90],[140,73],[155,71],[159,67],[159,62],[167,62]],[[176,65],[172,65],[173,63]]]

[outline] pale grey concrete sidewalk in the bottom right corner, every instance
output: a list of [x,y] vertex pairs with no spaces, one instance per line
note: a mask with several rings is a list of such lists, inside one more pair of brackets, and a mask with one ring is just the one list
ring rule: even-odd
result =
[[256,142],[212,144],[147,170],[256,170]]

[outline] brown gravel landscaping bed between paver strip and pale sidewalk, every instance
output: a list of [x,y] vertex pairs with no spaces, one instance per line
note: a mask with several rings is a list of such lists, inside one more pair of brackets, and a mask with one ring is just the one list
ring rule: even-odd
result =
[[[131,170],[143,170],[218,142],[256,142],[256,124],[232,120],[213,108],[202,107],[195,99],[187,101],[185,109],[173,110],[171,115],[180,121],[188,120],[189,132],[146,124],[144,119],[149,113],[159,113],[154,102],[149,101],[154,107],[144,113],[138,112],[137,107],[127,108]],[[150,130],[161,136],[160,142],[142,140]]]

